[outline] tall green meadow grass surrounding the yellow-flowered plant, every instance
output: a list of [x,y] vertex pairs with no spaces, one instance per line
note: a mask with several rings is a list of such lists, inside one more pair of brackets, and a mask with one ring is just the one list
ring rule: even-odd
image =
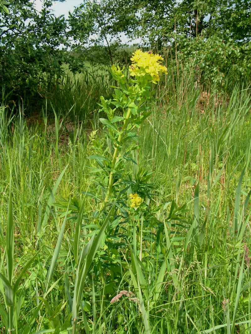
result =
[[76,318],[79,333],[249,333],[250,90],[168,79],[138,132],[138,165],[124,166],[132,179],[153,172],[155,218],[111,230],[108,212],[95,235],[87,157],[92,127],[109,148],[94,102],[110,91],[88,80],[68,77],[48,97],[53,119],[46,104],[38,122],[1,107],[1,333],[76,333]]

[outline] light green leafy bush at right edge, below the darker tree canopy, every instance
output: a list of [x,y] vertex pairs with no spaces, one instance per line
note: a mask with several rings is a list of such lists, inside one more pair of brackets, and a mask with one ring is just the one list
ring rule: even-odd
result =
[[176,46],[179,61],[200,85],[214,85],[222,90],[228,80],[236,82],[244,76],[250,77],[250,42],[240,44],[218,35],[206,39],[179,36]]

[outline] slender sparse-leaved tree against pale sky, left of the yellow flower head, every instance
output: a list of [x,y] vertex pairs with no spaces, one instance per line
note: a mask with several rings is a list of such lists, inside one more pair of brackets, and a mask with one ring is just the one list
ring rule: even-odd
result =
[[[75,41],[74,48],[82,49],[87,60],[95,59],[107,64],[109,59],[112,65],[115,61],[114,54],[117,54],[122,46],[121,32],[126,31],[128,34],[130,15],[123,15],[122,12],[117,15],[117,12],[111,10],[112,6],[114,4],[110,0],[85,1],[70,13],[69,23]],[[87,28],[85,31],[89,33],[87,47],[87,36],[85,35],[84,39],[82,36],[83,28]]]

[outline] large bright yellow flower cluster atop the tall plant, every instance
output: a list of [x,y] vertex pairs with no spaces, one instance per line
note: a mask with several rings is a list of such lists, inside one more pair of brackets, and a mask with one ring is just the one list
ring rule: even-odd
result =
[[167,74],[166,66],[161,65],[163,58],[152,51],[143,52],[136,50],[131,58],[132,65],[129,67],[132,76],[149,75],[153,83],[157,83],[160,74]]

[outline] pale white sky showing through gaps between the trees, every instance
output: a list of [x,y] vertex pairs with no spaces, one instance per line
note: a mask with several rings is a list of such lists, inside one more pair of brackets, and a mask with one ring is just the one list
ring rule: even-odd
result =
[[[74,10],[74,7],[79,6],[83,3],[83,0],[66,0],[64,2],[53,1],[51,9],[54,11],[55,16],[65,15],[66,18],[69,16],[69,12]],[[40,11],[43,7],[43,0],[34,0],[35,8],[37,11]],[[121,34],[122,43],[128,43],[127,37],[122,33]],[[135,39],[129,44],[140,43],[141,39]],[[105,44],[105,41],[104,41]]]

